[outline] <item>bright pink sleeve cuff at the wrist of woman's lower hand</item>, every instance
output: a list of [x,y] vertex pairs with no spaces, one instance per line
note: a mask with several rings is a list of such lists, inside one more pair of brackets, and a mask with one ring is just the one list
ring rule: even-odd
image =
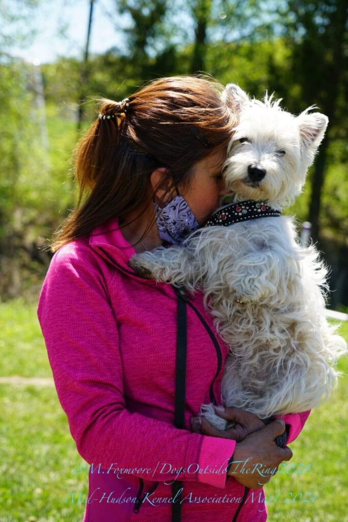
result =
[[215,488],[225,488],[226,468],[234,453],[236,441],[230,438],[205,436],[199,454],[198,482]]

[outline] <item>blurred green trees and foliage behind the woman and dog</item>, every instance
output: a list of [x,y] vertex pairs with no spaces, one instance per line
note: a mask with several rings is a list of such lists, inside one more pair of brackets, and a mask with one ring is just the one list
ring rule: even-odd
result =
[[[26,13],[28,6],[40,7],[40,2],[22,3],[27,5]],[[276,97],[283,98],[282,106],[295,114],[311,104],[319,105],[330,116],[328,139],[309,172],[303,195],[289,212],[299,220],[308,219],[322,167],[320,190],[315,195],[321,202],[316,222],[320,224],[320,246],[337,281],[345,270],[348,249],[348,53],[346,21],[338,16],[344,3],[347,0],[120,0],[113,15],[115,27],[119,17],[127,17],[125,42],[119,45],[115,31],[114,45],[102,55],[90,56],[84,124],[89,125],[96,115],[89,98],[119,100],[155,77],[197,70],[222,84],[238,83],[257,98],[266,89],[275,91]],[[4,5],[0,0],[0,18]],[[4,259],[11,259],[18,249],[30,255],[29,286],[33,259],[36,257],[36,272],[44,271],[47,264],[47,254],[42,251],[44,236],[56,229],[74,205],[69,159],[79,138],[81,61],[58,57],[54,63],[42,65],[40,87],[38,67],[1,54],[4,50],[0,39],[0,270],[9,271],[3,290],[15,295],[26,285],[14,283],[14,264],[9,262],[4,268]],[[19,262],[21,267],[23,263]]]

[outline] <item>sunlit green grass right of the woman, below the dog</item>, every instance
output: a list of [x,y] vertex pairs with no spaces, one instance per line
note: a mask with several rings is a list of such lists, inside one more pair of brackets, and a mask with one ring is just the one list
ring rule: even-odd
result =
[[[341,331],[348,339],[348,324]],[[339,368],[345,375],[332,401],[311,412],[290,445],[292,459],[265,487],[266,498],[279,493],[268,503],[270,522],[348,521],[348,358],[339,361]]]

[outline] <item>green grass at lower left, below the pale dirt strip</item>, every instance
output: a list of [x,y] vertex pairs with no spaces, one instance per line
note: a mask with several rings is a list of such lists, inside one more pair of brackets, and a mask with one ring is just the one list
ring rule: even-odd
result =
[[0,385],[0,405],[0,520],[81,522],[83,505],[65,501],[87,494],[87,472],[55,388]]

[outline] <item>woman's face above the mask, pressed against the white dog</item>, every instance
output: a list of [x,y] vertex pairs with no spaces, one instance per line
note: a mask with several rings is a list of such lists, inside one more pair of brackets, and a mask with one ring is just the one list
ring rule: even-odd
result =
[[212,152],[195,163],[189,187],[178,185],[179,193],[186,199],[199,224],[204,223],[219,207],[220,196],[228,194],[221,176],[226,150]]

